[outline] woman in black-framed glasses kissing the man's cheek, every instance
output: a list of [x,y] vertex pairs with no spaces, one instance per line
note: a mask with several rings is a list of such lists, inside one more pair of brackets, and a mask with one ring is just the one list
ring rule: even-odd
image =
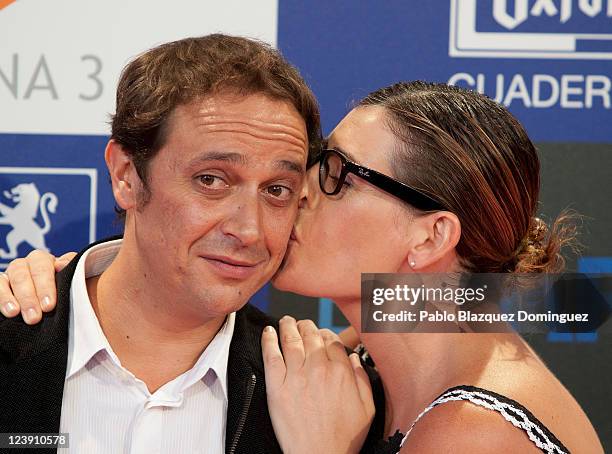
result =
[[[483,95],[400,83],[361,101],[326,148],[274,284],[334,300],[355,330],[346,343],[367,348],[385,384],[381,452],[603,452],[578,403],[515,333],[361,333],[362,271],[563,267],[571,228],[561,218],[548,232],[535,217],[539,161],[522,126]],[[329,380],[304,367],[322,343],[311,328],[282,320],[284,358],[274,330],[262,338],[282,446],[307,447],[295,409],[316,408]],[[333,414],[350,424],[342,408]]]

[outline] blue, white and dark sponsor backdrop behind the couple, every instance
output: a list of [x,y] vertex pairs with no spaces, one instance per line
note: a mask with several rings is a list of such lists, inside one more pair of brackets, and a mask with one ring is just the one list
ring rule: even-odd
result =
[[[612,271],[612,0],[0,0],[0,270],[33,248],[61,254],[120,231],[102,158],[120,70],[156,44],[213,32],[281,49],[319,98],[324,132],[399,80],[488,94],[538,146],[542,215],[585,216],[571,267]],[[253,302],[346,325],[327,300],[267,286]],[[530,339],[604,440],[609,402],[584,382],[612,395],[611,339]]]

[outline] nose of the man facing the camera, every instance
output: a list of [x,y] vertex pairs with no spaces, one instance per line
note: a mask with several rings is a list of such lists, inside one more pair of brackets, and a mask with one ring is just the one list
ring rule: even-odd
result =
[[236,201],[221,231],[237,239],[243,246],[256,244],[262,237],[261,207],[258,194],[243,196]]

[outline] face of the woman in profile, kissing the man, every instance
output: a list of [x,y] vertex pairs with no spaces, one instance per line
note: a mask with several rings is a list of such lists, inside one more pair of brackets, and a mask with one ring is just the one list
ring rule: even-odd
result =
[[[392,175],[398,146],[382,107],[351,111],[329,136],[327,148],[362,166]],[[273,283],[280,290],[342,301],[358,299],[361,273],[408,272],[411,214],[407,206],[356,175],[338,195],[319,188],[319,166],[308,174],[285,260]]]

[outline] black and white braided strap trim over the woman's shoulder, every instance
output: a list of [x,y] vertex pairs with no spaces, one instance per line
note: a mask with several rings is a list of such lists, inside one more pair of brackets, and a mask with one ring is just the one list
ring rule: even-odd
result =
[[[469,401],[475,405],[479,405],[489,410],[500,413],[506,421],[513,426],[524,430],[529,439],[542,450],[549,454],[568,454],[569,450],[563,446],[557,437],[550,432],[544,424],[542,424],[529,410],[523,407],[518,402],[508,399],[501,394],[488,391],[486,389],[477,388],[475,386],[456,386],[442,393],[434,400],[425,410],[417,416],[416,420],[410,426],[410,429],[404,435],[400,448],[405,443],[408,435],[412,431],[415,424],[432,408],[441,405],[445,402],[452,401]],[[397,451],[399,452],[399,450]]]

